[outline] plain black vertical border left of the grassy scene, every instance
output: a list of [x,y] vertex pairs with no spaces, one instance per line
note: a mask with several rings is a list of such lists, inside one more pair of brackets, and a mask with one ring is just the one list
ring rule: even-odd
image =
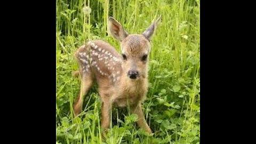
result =
[[7,143],[56,141],[55,4],[1,2],[1,119]]

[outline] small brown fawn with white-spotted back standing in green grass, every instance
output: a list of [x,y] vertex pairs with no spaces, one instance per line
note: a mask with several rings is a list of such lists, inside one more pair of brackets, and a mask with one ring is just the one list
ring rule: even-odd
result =
[[130,106],[131,113],[137,114],[137,124],[152,133],[142,113],[141,102],[148,91],[148,55],[150,38],[161,16],[142,34],[128,34],[113,17],[109,18],[110,33],[121,43],[122,55],[113,46],[102,41],[89,41],[78,48],[75,58],[81,75],[81,90],[74,105],[75,116],[81,113],[84,95],[97,83],[102,101],[101,127],[110,125],[112,104]]

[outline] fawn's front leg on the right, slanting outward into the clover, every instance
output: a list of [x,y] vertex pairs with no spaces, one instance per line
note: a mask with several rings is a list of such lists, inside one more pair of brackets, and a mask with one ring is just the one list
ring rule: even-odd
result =
[[137,124],[139,125],[139,127],[141,127],[142,129],[147,131],[149,134],[151,134],[152,131],[151,131],[150,127],[148,126],[146,119],[143,115],[141,104],[139,103],[138,105],[131,106],[131,112],[133,114],[138,115]]

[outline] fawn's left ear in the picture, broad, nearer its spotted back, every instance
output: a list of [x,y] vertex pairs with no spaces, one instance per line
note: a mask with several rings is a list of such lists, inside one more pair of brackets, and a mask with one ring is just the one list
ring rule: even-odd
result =
[[122,42],[129,34],[123,29],[122,25],[113,17],[109,17],[110,33],[119,41]]

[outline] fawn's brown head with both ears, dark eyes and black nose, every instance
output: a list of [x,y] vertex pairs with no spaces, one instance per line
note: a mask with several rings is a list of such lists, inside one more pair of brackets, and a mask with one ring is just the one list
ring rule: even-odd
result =
[[121,43],[123,57],[123,73],[132,81],[147,77],[150,39],[161,16],[154,21],[142,34],[129,34],[113,17],[109,18],[110,33]]

